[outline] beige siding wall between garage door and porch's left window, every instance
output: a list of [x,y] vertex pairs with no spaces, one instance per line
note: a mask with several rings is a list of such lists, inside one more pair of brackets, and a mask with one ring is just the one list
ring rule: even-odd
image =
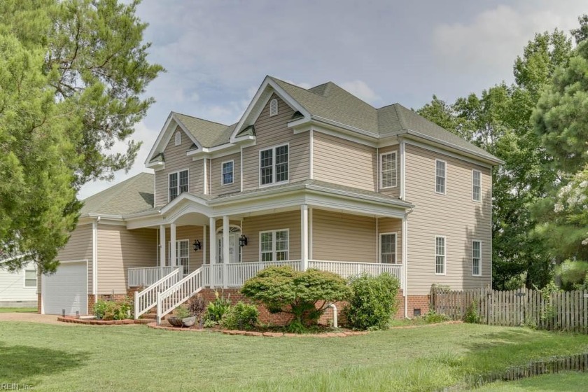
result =
[[155,267],[157,253],[157,230],[99,224],[98,294],[126,293],[127,269]]

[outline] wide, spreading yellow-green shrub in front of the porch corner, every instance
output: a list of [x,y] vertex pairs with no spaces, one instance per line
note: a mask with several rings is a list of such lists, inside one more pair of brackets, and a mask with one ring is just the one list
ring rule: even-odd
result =
[[[304,327],[316,324],[330,302],[350,293],[345,279],[331,272],[292,267],[268,267],[245,281],[241,293],[262,302],[270,313],[288,313]],[[319,303],[320,302],[320,303]]]

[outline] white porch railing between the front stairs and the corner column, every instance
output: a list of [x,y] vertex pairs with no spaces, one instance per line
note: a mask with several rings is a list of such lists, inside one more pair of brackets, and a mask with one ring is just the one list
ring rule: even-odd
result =
[[[293,269],[302,269],[302,260],[233,262],[229,264],[206,264],[204,268],[204,286],[241,287],[247,279],[253,278],[267,267],[289,265]],[[223,281],[225,276],[225,281]]]

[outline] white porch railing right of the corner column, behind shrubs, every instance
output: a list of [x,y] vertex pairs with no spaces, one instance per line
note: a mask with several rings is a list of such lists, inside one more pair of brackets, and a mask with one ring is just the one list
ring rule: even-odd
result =
[[345,279],[363,274],[364,272],[377,276],[383,272],[388,272],[400,281],[401,288],[404,288],[404,279],[402,279],[402,264],[384,264],[379,262],[349,262],[349,261],[323,261],[309,260],[309,268],[321,269],[322,271],[333,272],[343,276]]

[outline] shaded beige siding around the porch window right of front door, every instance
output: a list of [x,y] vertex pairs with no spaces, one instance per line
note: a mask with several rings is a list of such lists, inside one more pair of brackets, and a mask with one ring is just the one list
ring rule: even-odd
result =
[[247,246],[241,249],[242,260],[244,262],[259,261],[259,232],[281,229],[290,230],[288,258],[300,260],[300,210],[244,218],[241,230],[246,235],[248,242]]

